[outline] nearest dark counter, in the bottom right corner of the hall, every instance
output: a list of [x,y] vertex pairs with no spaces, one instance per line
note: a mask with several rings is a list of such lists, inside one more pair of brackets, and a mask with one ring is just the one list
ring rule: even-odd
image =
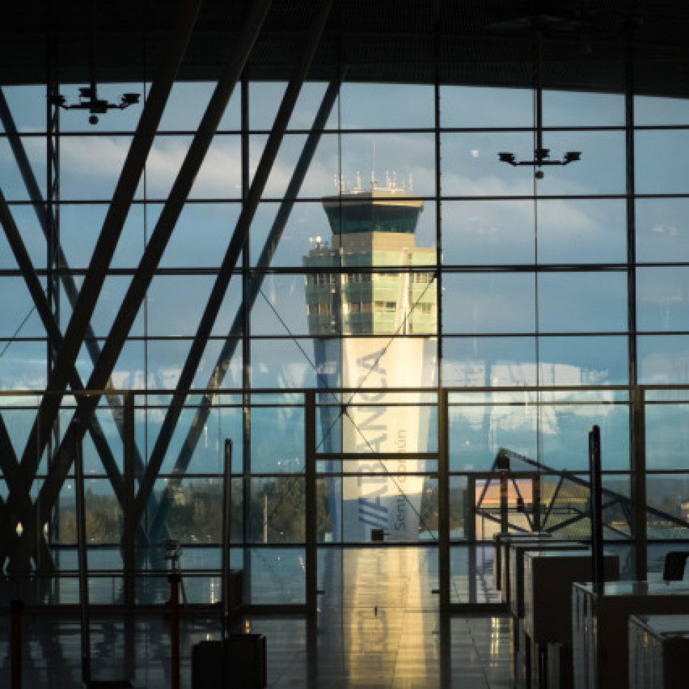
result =
[[689,686],[689,615],[629,617],[631,689]]

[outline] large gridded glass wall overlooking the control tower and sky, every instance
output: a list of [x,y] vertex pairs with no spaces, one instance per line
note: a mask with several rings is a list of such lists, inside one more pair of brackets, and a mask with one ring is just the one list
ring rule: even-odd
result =
[[[532,88],[338,79],[303,85],[256,207],[251,188],[286,84],[237,86],[131,328],[119,332],[113,324],[214,84],[173,88],[74,363],[88,386],[103,349],[118,343],[106,379],[114,390],[138,393],[138,481],[153,467],[143,530],[153,541],[178,538],[190,553],[206,549],[218,559],[230,438],[232,561],[249,573],[251,602],[306,600],[294,577],[303,577],[306,517],[315,514],[319,590],[325,570],[348,576],[360,553],[339,565],[341,555],[332,565],[325,555],[361,550],[372,530],[400,548],[417,547],[435,580],[443,486],[452,601],[469,602],[480,586],[466,572],[490,555],[469,544],[490,541],[490,510],[480,519],[476,510],[492,492],[499,450],[532,462],[519,471],[527,483],[541,475],[551,518],[557,510],[547,496],[565,473],[571,499],[562,509],[583,514],[586,433],[598,424],[605,485],[617,496],[606,537],[629,552],[648,538],[642,565],[657,571],[658,548],[685,537],[687,527],[689,468],[681,448],[667,442],[681,444],[684,402],[678,393],[642,405],[640,446],[637,386],[689,385],[689,192],[681,155],[689,107],[623,86],[616,93],[546,88],[543,136],[552,157],[582,156],[537,178],[533,167],[498,156],[532,157]],[[107,88],[114,99],[128,91],[145,98],[150,84]],[[65,94],[75,89],[60,86]],[[140,106],[95,126],[83,112],[53,109],[48,131],[44,87],[3,91],[2,191],[28,257],[18,263],[0,235],[0,390],[31,395],[3,398],[2,442],[18,461],[32,452],[36,395],[60,349],[48,321],[63,333],[70,323]],[[247,218],[243,250],[209,309],[235,228]],[[29,291],[32,273],[47,311]],[[199,335],[204,318],[212,321],[207,336]],[[316,391],[313,447],[305,440],[309,388]],[[400,397],[391,398],[391,388]],[[450,388],[443,421],[438,398],[425,395]],[[119,397],[103,396],[96,417],[122,471]],[[39,448],[34,498],[51,476],[70,404]],[[442,428],[447,447],[438,440]],[[87,506],[100,520],[89,526],[91,538],[107,549],[121,537],[122,502],[103,448],[90,435],[84,443]],[[402,453],[423,457],[392,466],[387,454]],[[362,454],[386,457],[357,459]],[[308,457],[317,462],[313,504]],[[647,472],[643,491],[639,471]],[[71,469],[46,524],[47,542],[65,553],[74,542],[70,490]],[[652,510],[635,532],[627,517],[638,495]],[[357,510],[348,520],[352,499]],[[165,518],[160,500],[171,505]],[[398,504],[400,515],[418,522],[403,538],[380,518]],[[73,563],[70,557],[61,562]],[[626,571],[638,574],[632,560]]]

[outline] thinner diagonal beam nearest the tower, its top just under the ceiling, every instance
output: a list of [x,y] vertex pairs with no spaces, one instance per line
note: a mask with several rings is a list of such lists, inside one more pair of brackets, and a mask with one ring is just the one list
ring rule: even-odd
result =
[[[318,112],[313,120],[311,131],[308,133],[308,137],[304,143],[301,155],[299,156],[296,166],[294,167],[294,173],[292,173],[289,185],[287,185],[287,191],[284,195],[285,198],[280,204],[280,208],[277,210],[275,221],[273,221],[270,232],[268,232],[268,237],[265,239],[261,254],[258,256],[256,268],[268,268],[270,262],[273,261],[273,256],[275,256],[275,251],[277,251],[277,246],[280,244],[280,239],[282,238],[282,232],[284,232],[289,215],[294,207],[295,199],[299,193],[299,190],[301,190],[301,185],[303,184],[306,173],[308,172],[311,161],[313,160],[315,151],[320,143],[323,129],[327,124],[328,117],[330,117],[330,113],[332,112],[332,108],[335,104],[335,100],[339,92],[340,79],[341,77],[338,79],[333,79],[324,93],[323,100],[321,101]],[[260,273],[256,275],[254,280],[251,280],[249,283],[249,293],[244,297],[244,302],[239,304],[239,307],[237,308],[237,313],[232,321],[232,327],[230,327],[230,332],[225,339],[225,343],[223,344],[220,354],[218,355],[218,360],[206,388],[217,389],[222,387],[223,380],[225,379],[225,373],[227,372],[227,364],[230,362],[230,360],[232,360],[232,356],[237,348],[237,341],[242,335],[242,327],[244,324],[244,303],[247,304],[247,313],[251,313],[251,309],[254,308],[256,298],[261,291],[261,285],[263,284],[264,277],[265,274]],[[211,395],[204,395],[203,399],[201,400],[199,408],[197,409],[194,419],[192,420],[187,438],[182,444],[182,448],[172,470],[172,478],[166,484],[159,504],[155,509],[149,530],[150,538],[154,542],[159,538],[164,521],[167,518],[167,513],[169,512],[172,504],[172,492],[181,484],[182,476],[186,473],[198,445],[199,438],[201,438],[203,428],[208,420],[209,414],[211,413],[211,408],[213,407],[212,400],[213,398]]]

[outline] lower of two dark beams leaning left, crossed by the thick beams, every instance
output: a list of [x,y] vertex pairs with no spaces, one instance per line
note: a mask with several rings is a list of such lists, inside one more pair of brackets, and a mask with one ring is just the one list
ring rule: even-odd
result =
[[[1,189],[0,225],[2,225],[5,230],[5,236],[7,237],[8,244],[10,245],[15,259],[17,261],[17,264],[20,270],[22,271],[22,275],[27,284],[27,288],[29,289],[29,293],[31,294],[34,300],[34,306],[36,307],[37,312],[39,313],[41,322],[43,322],[44,324],[46,334],[48,335],[48,341],[50,341],[51,345],[53,346],[53,348],[55,348],[55,350],[59,350],[60,346],[62,346],[63,343],[62,333],[60,332],[57,322],[55,322],[55,317],[51,311],[50,304],[48,303],[48,298],[46,297],[46,294],[43,291],[43,287],[41,285],[39,277],[31,263],[31,258],[29,258],[29,252],[25,247],[20,231],[14,221],[14,218],[11,214],[11,211]],[[70,376],[70,386],[72,387],[73,391],[78,392],[84,390],[84,383],[81,381],[81,377],[79,376],[77,369],[72,369],[72,375]],[[116,397],[119,400],[119,395],[112,395],[112,397]],[[81,398],[79,395],[77,395],[76,399],[77,408],[79,409],[83,407],[84,398]],[[120,417],[119,425],[122,426],[122,405],[119,405],[119,413],[115,413],[117,412],[116,409],[113,409],[112,411],[114,412],[114,416]],[[103,428],[100,426],[98,418],[95,416],[95,414],[92,414],[91,417],[88,419],[87,425],[88,431],[91,434],[91,439],[93,440],[93,445],[95,445],[96,450],[100,455],[100,459],[103,462],[103,468],[105,469],[107,478],[109,478],[110,483],[112,483],[114,494],[117,497],[119,503],[123,504],[124,481],[122,480],[122,475],[119,472],[117,461],[114,459],[112,450],[110,450],[110,445],[107,442],[105,432],[103,431]],[[48,473],[50,473],[49,469]],[[13,478],[14,475],[15,474],[13,474]],[[51,507],[52,506],[53,505],[51,505]],[[26,507],[29,508],[30,504],[26,505]],[[143,531],[140,535],[141,537],[145,538],[145,533]],[[41,562],[46,563],[46,558],[41,558]]]

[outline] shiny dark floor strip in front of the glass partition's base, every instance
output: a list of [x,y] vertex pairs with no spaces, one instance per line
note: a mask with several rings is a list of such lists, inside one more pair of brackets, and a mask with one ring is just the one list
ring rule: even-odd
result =
[[[301,617],[252,617],[238,627],[265,636],[268,687],[510,686],[508,617],[452,617],[444,630],[437,615],[424,612],[370,610],[350,619],[343,624],[342,615],[321,614],[311,636]],[[8,617],[1,626],[0,686],[9,687]],[[192,647],[220,634],[218,619],[183,615],[183,687],[192,686]],[[22,637],[22,687],[80,686],[79,617],[25,614]],[[128,625],[115,615],[91,617],[91,678],[129,678],[140,688],[171,686],[169,618],[138,616]]]

